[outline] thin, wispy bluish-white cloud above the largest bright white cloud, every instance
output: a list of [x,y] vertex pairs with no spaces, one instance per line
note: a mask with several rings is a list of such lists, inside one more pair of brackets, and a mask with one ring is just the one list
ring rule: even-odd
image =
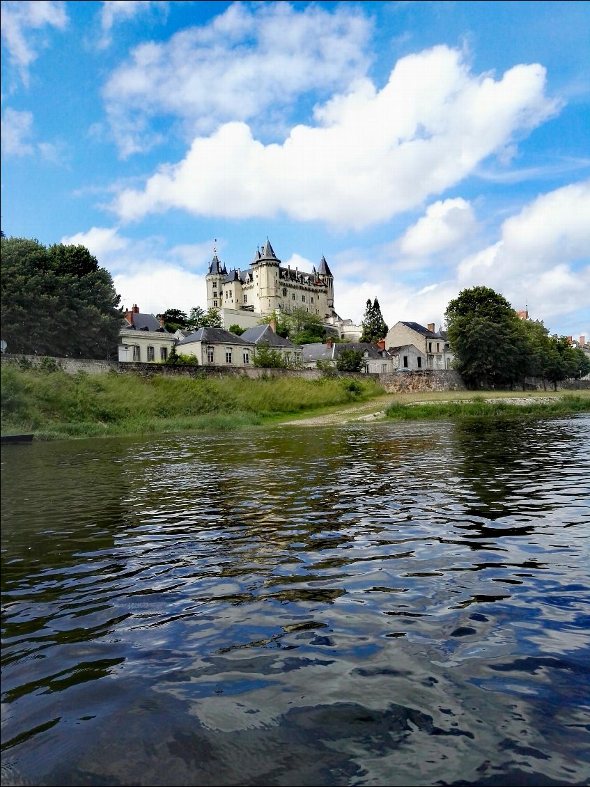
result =
[[189,139],[230,120],[278,126],[282,135],[282,113],[301,94],[341,89],[366,71],[369,31],[365,17],[338,3],[301,11],[236,2],[204,26],[144,43],[103,91],[120,153],[159,142],[151,120],[161,116],[180,118]]

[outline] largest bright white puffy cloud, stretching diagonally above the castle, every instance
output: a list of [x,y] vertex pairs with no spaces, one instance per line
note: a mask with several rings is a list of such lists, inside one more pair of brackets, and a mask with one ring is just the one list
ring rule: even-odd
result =
[[142,190],[122,190],[112,207],[126,221],[176,208],[361,229],[459,183],[555,113],[544,86],[540,65],[497,80],[474,76],[459,51],[437,46],[398,61],[381,91],[356,82],[282,144],[254,139],[241,121],[223,124]]

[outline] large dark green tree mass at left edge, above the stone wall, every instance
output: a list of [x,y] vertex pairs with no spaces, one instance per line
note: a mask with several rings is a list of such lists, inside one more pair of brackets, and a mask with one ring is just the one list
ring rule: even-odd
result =
[[9,353],[116,357],[120,296],[84,246],[2,238],[0,300]]

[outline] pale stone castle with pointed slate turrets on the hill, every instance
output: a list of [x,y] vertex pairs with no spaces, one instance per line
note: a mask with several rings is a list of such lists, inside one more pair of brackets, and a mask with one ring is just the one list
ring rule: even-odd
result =
[[227,272],[214,248],[205,279],[207,308],[219,311],[223,327],[248,328],[278,312],[304,309],[319,315],[339,335],[357,332],[352,320],[342,320],[334,311],[334,276],[323,255],[317,270],[314,265],[311,273],[304,273],[282,265],[267,239],[262,252],[256,249],[248,268]]

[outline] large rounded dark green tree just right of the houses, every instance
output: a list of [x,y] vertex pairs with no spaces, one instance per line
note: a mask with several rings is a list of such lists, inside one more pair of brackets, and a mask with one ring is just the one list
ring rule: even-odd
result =
[[522,329],[503,295],[489,287],[462,290],[445,312],[455,367],[468,385],[489,388],[522,379]]

